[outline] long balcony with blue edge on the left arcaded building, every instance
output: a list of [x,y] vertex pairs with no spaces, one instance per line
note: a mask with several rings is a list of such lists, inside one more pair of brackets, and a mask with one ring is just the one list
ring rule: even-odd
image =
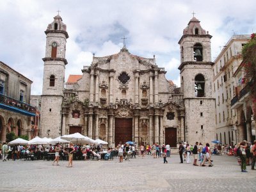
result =
[[20,113],[26,116],[35,116],[36,109],[29,104],[20,102],[19,100],[13,99],[0,93],[0,108]]

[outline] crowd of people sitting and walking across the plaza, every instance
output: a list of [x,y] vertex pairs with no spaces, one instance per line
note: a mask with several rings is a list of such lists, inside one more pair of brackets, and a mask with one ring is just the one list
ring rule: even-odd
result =
[[[214,145],[214,148],[210,148],[209,143],[202,145],[200,142],[196,142],[195,145],[189,145],[189,143],[179,143],[179,156],[180,163],[191,163],[191,156],[193,156],[194,166],[206,166],[207,163],[209,167],[213,166],[211,156],[213,154],[227,154],[228,156],[235,155],[239,163],[241,164],[241,172],[246,171],[246,165],[251,165],[252,170],[255,170],[255,160],[256,160],[256,140],[253,145],[247,141],[238,143],[237,145]],[[119,157],[119,162],[122,163],[123,160],[129,160],[131,158],[136,158],[140,156],[142,159],[145,155],[152,156],[152,158],[163,157],[163,163],[168,163],[167,157],[170,157],[171,147],[170,145],[159,145],[159,143],[154,143],[152,145],[141,144],[136,146],[135,143],[122,143],[120,142],[115,148],[103,148],[102,145],[86,144],[86,145],[74,145],[70,143],[68,145],[49,145],[45,147],[44,145],[7,145],[3,143],[0,146],[0,156],[3,161],[7,159],[21,159],[24,157],[29,157],[29,160],[35,159],[45,159],[45,155],[54,154],[55,159],[52,165],[59,165],[60,157],[62,159],[68,160],[67,167],[72,167],[72,159],[76,160],[89,160],[96,159],[108,160],[113,157]],[[49,157],[49,156],[47,156]],[[49,159],[48,159],[49,160]],[[53,160],[53,159],[52,159]]]

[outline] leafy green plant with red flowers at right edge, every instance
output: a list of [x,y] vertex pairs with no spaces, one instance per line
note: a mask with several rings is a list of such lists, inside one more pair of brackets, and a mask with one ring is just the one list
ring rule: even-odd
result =
[[250,41],[242,50],[244,83],[248,84],[253,101],[253,114],[256,119],[256,33],[252,33]]

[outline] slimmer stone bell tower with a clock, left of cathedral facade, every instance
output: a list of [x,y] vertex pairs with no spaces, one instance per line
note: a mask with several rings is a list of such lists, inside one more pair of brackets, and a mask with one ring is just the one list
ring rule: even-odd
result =
[[61,105],[65,83],[65,59],[68,33],[60,15],[56,15],[48,25],[45,46],[44,79],[41,97],[40,136],[55,138],[60,136]]

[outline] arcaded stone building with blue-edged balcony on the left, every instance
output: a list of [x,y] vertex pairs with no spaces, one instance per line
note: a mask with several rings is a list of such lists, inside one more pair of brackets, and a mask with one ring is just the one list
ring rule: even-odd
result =
[[0,61],[0,140],[6,141],[6,133],[14,132],[31,138],[31,118],[35,108],[29,105],[33,82]]

